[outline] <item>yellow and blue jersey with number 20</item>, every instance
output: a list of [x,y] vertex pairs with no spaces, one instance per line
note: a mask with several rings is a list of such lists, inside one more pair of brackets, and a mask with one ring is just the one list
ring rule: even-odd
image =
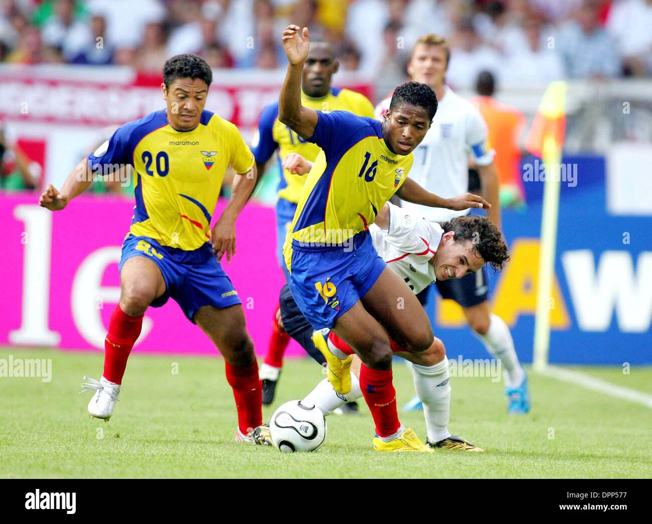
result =
[[131,234],[194,251],[210,240],[226,167],[243,174],[254,157],[235,125],[211,111],[192,131],[175,130],[165,111],[156,111],[121,126],[88,162],[93,172],[134,167]]

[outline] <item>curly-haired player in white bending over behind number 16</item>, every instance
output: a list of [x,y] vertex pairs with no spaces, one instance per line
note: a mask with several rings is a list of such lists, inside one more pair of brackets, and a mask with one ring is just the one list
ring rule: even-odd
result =
[[[299,174],[307,172],[310,163],[301,156],[288,156],[286,162],[296,159],[297,164],[288,167]],[[297,167],[299,165],[300,167]],[[461,217],[453,221],[434,223],[426,221],[414,210],[406,210],[389,202],[380,210],[376,222],[369,227],[378,255],[385,260],[409,288],[418,294],[435,281],[460,278],[467,273],[480,271],[486,262],[495,269],[501,269],[509,255],[507,246],[497,228],[484,217]],[[476,240],[477,239],[477,240]],[[280,301],[282,320],[288,333],[314,357],[314,347],[304,332],[312,332],[308,322],[301,323],[301,312],[293,305],[291,295]],[[396,307],[392,305],[391,307]],[[329,363],[329,376],[334,361],[348,361],[351,364],[353,350],[329,329],[315,331],[312,338],[315,346]],[[435,338],[432,346],[424,353],[409,353],[397,342],[391,340],[394,353],[412,363],[413,378],[417,396],[424,405],[426,419],[426,443],[433,448],[451,450],[482,451],[462,437],[451,435],[448,430],[451,385],[449,383],[449,362],[443,343]],[[349,392],[337,393],[329,379],[323,379],[304,402],[319,407],[325,415],[346,402],[353,402],[362,396],[355,372],[350,377]],[[268,444],[269,428],[259,426],[253,432],[259,444]]]

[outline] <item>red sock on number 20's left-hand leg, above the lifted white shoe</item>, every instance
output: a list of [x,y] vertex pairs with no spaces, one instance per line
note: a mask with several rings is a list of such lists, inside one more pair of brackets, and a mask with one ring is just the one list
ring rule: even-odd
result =
[[104,378],[122,383],[126,361],[140,335],[143,316],[129,316],[118,304],[111,313],[109,332],[104,338]]

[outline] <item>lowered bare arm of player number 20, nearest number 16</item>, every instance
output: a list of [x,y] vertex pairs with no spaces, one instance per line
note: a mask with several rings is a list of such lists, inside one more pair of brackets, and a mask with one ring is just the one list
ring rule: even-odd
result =
[[231,199],[211,232],[213,253],[217,255],[217,260],[221,261],[225,253],[227,262],[231,262],[231,256],[235,256],[235,221],[256,187],[256,178],[256,163],[250,171],[236,174],[233,178]]

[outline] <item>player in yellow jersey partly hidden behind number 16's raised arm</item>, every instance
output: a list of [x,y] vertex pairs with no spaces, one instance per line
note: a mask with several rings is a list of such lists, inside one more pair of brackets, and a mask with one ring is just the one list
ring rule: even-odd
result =
[[[343,109],[361,117],[374,117],[374,106],[360,93],[348,89],[332,87],[333,75],[339,63],[335,58],[333,46],[324,40],[310,42],[308,58],[304,62],[301,77],[301,103],[320,111]],[[283,243],[288,227],[297,210],[305,176],[285,169],[282,163],[290,153],[300,154],[308,161],[314,161],[321,151],[318,145],[304,140],[278,120],[278,100],[273,102],[260,115],[258,135],[254,139],[254,156],[258,173],[262,176],[265,164],[276,152],[276,160],[281,171],[276,202],[276,238],[278,260],[283,265]],[[276,382],[283,366],[283,353],[289,342],[289,335],[278,326],[278,306],[272,320],[272,335],[269,339],[265,362],[260,368],[263,381],[263,405],[274,400]],[[321,353],[318,353],[321,355]]]

